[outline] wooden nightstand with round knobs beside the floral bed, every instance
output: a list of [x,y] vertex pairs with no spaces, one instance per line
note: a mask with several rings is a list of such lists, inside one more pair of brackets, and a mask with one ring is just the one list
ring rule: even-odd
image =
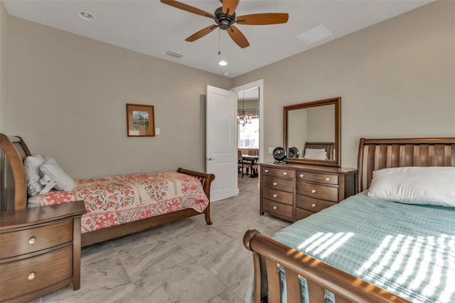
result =
[[82,201],[0,213],[0,302],[80,288]]

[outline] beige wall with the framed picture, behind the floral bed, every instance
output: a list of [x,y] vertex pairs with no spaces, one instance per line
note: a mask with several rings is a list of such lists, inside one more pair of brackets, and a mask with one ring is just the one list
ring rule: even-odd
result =
[[[75,178],[205,170],[206,85],[229,89],[229,78],[14,16],[8,34],[2,132]],[[154,105],[161,134],[127,137],[127,103]]]

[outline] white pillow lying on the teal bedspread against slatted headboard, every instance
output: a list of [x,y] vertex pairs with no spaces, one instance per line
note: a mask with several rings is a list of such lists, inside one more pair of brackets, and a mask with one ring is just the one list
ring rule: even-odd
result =
[[455,167],[413,166],[373,171],[368,196],[455,207]]

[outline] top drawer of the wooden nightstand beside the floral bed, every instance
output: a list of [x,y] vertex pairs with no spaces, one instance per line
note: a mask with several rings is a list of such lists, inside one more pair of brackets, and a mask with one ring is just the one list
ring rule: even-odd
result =
[[0,259],[52,248],[73,240],[73,220],[0,234]]

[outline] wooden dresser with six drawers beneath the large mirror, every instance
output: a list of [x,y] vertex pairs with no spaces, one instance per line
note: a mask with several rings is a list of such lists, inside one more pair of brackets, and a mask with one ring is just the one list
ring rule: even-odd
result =
[[356,169],[263,163],[260,214],[296,221],[356,193]]

